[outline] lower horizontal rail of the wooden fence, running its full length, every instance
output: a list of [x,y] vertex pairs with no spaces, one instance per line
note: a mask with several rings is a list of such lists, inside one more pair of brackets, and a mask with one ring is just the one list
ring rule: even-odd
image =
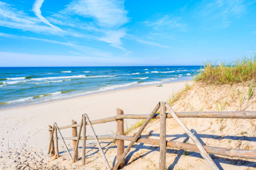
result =
[[[55,138],[54,138],[55,139]],[[94,136],[86,136],[86,140],[94,140]],[[97,139],[99,140],[107,140],[107,139],[116,139],[116,140],[127,140],[132,141],[134,139],[133,136],[125,136],[125,135],[97,135]],[[62,140],[58,138],[58,140]],[[64,140],[75,140],[72,137],[64,137]],[[83,137],[80,137],[80,140],[84,140]],[[136,141],[137,143],[145,143],[150,145],[160,145],[160,140],[157,139],[148,139],[148,138],[138,138]],[[188,151],[200,152],[195,144],[189,143],[182,143],[176,141],[166,141],[166,146],[168,148],[176,148],[176,149],[183,149]],[[207,153],[214,154],[214,155],[223,155],[229,157],[237,157],[237,158],[247,158],[247,159],[255,159],[256,160],[256,151],[254,150],[239,150],[239,149],[232,149],[232,148],[220,148],[214,146],[206,146],[203,145]]]

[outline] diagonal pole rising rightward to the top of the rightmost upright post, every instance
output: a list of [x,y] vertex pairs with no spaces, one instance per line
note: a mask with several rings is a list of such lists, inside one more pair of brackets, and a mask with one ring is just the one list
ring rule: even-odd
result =
[[119,160],[117,160],[115,162],[115,166],[113,167],[113,170],[117,170],[117,168],[119,167],[120,163],[122,162],[122,160],[124,160],[125,156],[129,153],[129,151],[131,150],[131,148],[133,147],[133,144],[136,142],[136,140],[138,140],[138,138],[140,137],[142,131],[144,130],[144,128],[146,127],[146,125],[148,124],[148,122],[152,119],[152,117],[156,114],[157,110],[159,109],[160,104],[157,103],[156,107],[154,108],[154,110],[151,112],[150,116],[148,116],[148,118],[146,119],[146,121],[143,123],[143,125],[140,127],[140,129],[138,130],[138,132],[136,133],[136,135],[134,136],[134,139],[131,141],[131,143],[128,145],[128,147],[126,148],[126,150],[124,151],[124,153],[122,154],[122,156],[120,157]]

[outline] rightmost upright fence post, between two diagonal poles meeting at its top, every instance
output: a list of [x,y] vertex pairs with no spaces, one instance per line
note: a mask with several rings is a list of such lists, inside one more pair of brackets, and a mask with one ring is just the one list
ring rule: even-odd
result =
[[160,102],[160,156],[159,170],[165,170],[166,165],[166,102]]

